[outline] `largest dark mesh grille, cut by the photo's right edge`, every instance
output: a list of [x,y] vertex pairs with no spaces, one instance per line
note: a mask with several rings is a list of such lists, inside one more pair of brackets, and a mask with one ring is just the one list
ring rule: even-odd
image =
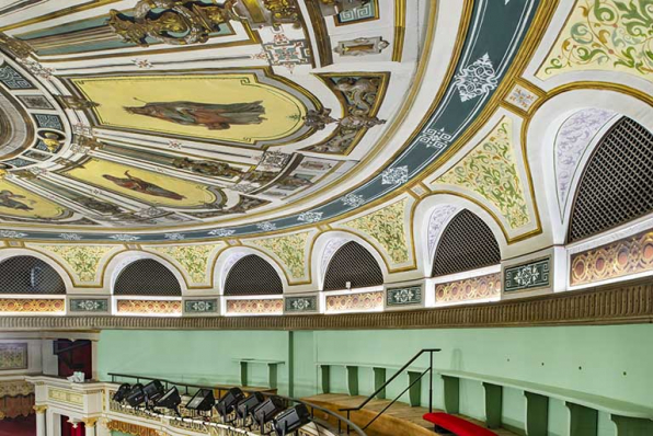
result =
[[621,118],[587,162],[572,208],[569,242],[653,211],[653,135]]

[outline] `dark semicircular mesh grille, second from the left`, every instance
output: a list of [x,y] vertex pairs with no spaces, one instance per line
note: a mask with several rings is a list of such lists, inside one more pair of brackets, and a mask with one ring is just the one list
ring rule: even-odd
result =
[[141,259],[127,265],[118,275],[115,295],[170,297],[181,296],[182,288],[170,269],[152,259]]

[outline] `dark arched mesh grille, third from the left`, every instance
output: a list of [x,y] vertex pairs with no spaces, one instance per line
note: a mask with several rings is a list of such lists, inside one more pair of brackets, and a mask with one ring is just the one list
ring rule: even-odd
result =
[[284,285],[276,271],[264,259],[250,254],[236,262],[225,282],[225,295],[284,294]]

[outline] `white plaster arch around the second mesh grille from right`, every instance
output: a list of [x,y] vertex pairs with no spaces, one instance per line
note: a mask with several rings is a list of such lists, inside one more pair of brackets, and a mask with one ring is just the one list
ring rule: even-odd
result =
[[[442,217],[439,226],[437,228],[429,229],[429,225],[434,214],[438,211],[449,209],[450,214]],[[451,195],[451,194],[435,194],[428,197],[425,197],[420,202],[417,208],[415,210],[415,217],[413,221],[413,226],[415,229],[415,236],[420,236],[420,238],[415,238],[415,253],[417,255],[417,267],[420,272],[423,274],[424,277],[431,276],[431,271],[433,268],[433,259],[435,256],[435,251],[437,249],[437,244],[439,242],[439,237],[442,236],[442,231],[447,226],[447,223],[462,209],[468,209],[469,211],[477,215],[479,218],[485,222],[485,225],[494,234],[494,239],[499,244],[499,250],[501,251],[502,259],[505,257],[507,252],[507,241],[505,234],[503,233],[500,225],[496,222],[494,218],[482,207],[477,205],[469,199]],[[431,232],[435,232],[433,236],[434,239],[432,244],[429,244],[429,230]]]

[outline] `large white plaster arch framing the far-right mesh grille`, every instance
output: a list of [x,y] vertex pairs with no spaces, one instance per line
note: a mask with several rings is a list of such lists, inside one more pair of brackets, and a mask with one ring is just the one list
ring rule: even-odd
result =
[[[563,92],[545,102],[534,114],[527,131],[526,152],[530,164],[532,184],[538,200],[540,219],[545,229],[550,229],[552,244],[563,244],[566,233],[566,218],[561,221],[555,179],[555,139],[561,126],[573,114],[582,110],[599,108],[628,116],[653,131],[651,106],[633,96],[608,90],[581,89]],[[617,115],[617,118],[619,117]],[[605,127],[607,129],[607,127]],[[583,164],[599,142],[599,131],[587,147],[585,160],[578,162],[575,176],[569,187],[573,198]],[[572,202],[568,202],[568,208]],[[565,211],[568,214],[569,210]],[[564,214],[563,214],[564,217]]]

